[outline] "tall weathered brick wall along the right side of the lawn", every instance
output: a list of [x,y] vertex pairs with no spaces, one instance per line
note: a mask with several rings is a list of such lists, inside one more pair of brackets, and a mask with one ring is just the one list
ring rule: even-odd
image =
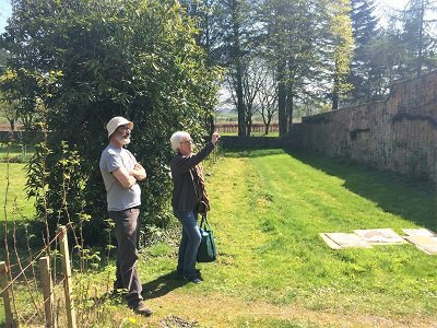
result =
[[305,117],[281,144],[437,183],[437,73],[393,85],[383,102]]

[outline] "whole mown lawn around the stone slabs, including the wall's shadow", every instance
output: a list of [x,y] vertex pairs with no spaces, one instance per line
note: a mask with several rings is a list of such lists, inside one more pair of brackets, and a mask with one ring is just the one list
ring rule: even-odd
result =
[[[139,263],[154,315],[142,318],[105,301],[106,324],[435,327],[435,257],[410,244],[332,250],[318,236],[373,227],[436,231],[435,189],[283,150],[228,153],[206,183],[220,257],[198,266],[204,281],[186,284],[173,272],[177,241],[156,244]],[[113,272],[108,266],[86,279],[106,291]]]

